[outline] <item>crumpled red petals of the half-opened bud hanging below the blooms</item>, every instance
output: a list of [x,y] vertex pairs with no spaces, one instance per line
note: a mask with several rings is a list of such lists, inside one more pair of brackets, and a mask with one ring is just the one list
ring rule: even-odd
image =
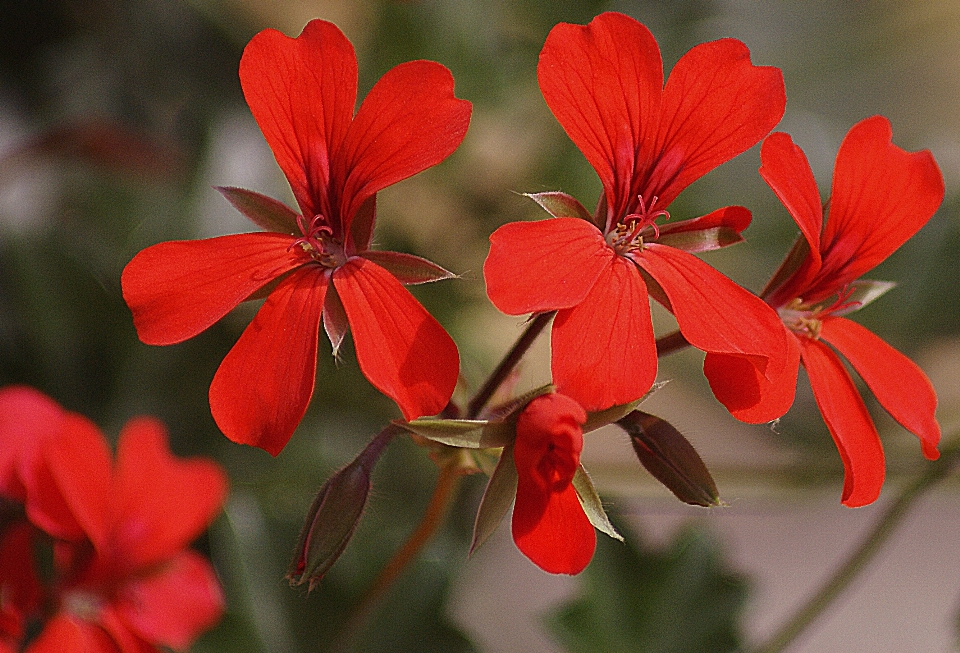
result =
[[513,540],[534,564],[552,574],[579,574],[597,545],[572,484],[586,421],[583,407],[558,393],[537,397],[517,418]]

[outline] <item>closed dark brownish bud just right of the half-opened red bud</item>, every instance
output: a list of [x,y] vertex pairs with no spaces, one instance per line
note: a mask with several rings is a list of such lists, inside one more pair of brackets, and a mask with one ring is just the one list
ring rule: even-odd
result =
[[640,463],[678,499],[695,506],[723,505],[697,450],[669,422],[635,410],[617,424],[630,436]]

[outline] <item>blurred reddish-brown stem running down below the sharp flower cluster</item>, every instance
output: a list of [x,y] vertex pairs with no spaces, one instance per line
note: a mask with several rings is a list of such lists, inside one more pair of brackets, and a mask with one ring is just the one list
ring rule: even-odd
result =
[[403,547],[394,553],[390,561],[380,570],[373,584],[353,610],[350,620],[340,632],[337,637],[337,644],[332,650],[348,650],[349,643],[353,640],[354,635],[359,632],[377,602],[437,532],[437,528],[443,522],[450,505],[453,503],[457,481],[465,473],[464,468],[457,464],[456,458],[448,458],[440,465],[437,484],[433,489],[433,495],[430,497],[430,502],[427,504],[423,517],[420,518],[420,523],[407,538]]

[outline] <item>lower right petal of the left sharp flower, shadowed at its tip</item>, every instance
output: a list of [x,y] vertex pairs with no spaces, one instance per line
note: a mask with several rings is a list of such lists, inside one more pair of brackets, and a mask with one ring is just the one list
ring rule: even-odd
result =
[[396,278],[352,258],[333,273],[363,375],[406,420],[439,413],[453,394],[460,354],[453,339]]

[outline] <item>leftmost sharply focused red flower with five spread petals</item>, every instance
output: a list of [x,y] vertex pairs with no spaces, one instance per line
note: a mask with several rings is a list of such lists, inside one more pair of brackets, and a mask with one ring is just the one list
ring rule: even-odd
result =
[[274,455],[313,394],[321,317],[334,354],[352,331],[360,369],[406,419],[439,412],[459,374],[457,348],[401,284],[452,275],[369,247],[377,191],[449,156],[466,133],[470,103],[454,97],[446,68],[413,61],[384,75],[354,116],[353,47],[319,20],[296,39],[275,30],[255,36],[240,82],[300,214],[223,189],[272,233],[140,252],[122,278],[140,339],[191,338],[269,290],[213,379],[210,409],[229,438]]

